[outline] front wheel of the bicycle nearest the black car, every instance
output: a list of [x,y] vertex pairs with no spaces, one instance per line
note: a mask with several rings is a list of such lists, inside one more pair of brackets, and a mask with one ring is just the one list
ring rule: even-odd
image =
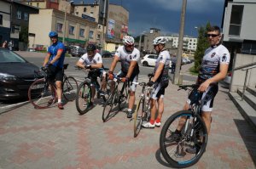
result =
[[[28,99],[36,109],[45,109],[55,103],[55,87],[50,87],[51,84],[46,87],[45,84],[44,79],[38,79],[28,89]],[[52,91],[51,88],[54,90]]]

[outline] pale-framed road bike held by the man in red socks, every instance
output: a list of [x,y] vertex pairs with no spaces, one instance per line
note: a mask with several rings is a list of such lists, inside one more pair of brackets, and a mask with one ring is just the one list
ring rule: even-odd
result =
[[[152,76],[148,76],[149,81],[151,81]],[[152,87],[147,87],[146,82],[138,82],[142,88],[142,93],[140,95],[140,99],[137,101],[137,107],[135,113],[133,115],[133,137],[136,138],[139,132],[142,129],[143,121],[149,121],[150,119],[150,96],[153,92]]]

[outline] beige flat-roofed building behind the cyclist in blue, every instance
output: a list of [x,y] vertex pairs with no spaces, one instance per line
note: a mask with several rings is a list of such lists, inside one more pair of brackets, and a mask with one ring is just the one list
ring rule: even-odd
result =
[[[88,42],[96,42],[97,23],[73,14],[66,14],[65,21],[65,12],[40,9],[39,14],[31,14],[30,20],[29,33],[33,35],[29,37],[30,48],[48,48],[51,43],[49,31],[57,31],[61,42],[64,37],[65,45],[79,45],[84,48]],[[44,29],[38,29],[40,27]]]

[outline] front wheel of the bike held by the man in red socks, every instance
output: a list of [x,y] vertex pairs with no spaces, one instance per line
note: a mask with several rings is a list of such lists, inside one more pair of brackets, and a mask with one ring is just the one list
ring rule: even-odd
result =
[[136,138],[139,132],[142,129],[142,124],[143,124],[143,110],[144,110],[144,99],[141,98],[137,102],[137,108],[134,113],[134,123],[133,123],[133,137]]

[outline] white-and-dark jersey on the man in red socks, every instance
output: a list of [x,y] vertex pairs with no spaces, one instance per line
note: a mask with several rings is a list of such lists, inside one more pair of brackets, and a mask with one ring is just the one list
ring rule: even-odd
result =
[[168,82],[169,82],[168,72],[170,67],[170,60],[171,60],[171,57],[169,52],[167,50],[164,50],[160,52],[158,59],[156,59],[155,61],[154,73],[158,69],[160,63],[165,65],[160,76],[156,80],[157,82],[161,82],[163,87],[166,87],[166,85],[168,85]]

